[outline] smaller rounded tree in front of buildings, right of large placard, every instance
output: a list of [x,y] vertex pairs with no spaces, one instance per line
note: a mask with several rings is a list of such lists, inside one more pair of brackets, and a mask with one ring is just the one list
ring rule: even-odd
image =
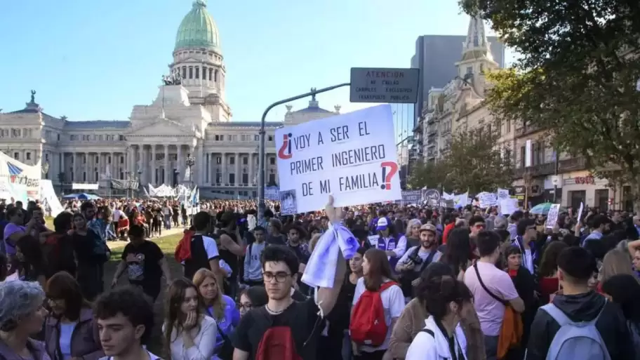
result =
[[451,147],[443,159],[446,185],[455,192],[491,192],[508,187],[513,180],[511,149],[500,148],[496,127],[481,126],[458,130],[451,136]]

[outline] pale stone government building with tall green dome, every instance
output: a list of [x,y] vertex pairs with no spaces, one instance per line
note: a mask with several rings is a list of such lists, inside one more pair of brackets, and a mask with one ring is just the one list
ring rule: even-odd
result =
[[[48,164],[43,178],[58,192],[98,183],[98,194],[107,194],[111,179],[187,185],[191,155],[191,180],[201,197],[257,196],[260,121],[232,121],[220,34],[205,0],[194,1],[180,23],[168,73],[156,100],[134,105],[124,121],[52,116],[32,91],[24,109],[0,113],[0,151],[28,165]],[[274,130],[338,114],[340,107],[321,109],[312,99],[305,109],[287,110],[284,121],[267,123],[267,185],[278,181]]]

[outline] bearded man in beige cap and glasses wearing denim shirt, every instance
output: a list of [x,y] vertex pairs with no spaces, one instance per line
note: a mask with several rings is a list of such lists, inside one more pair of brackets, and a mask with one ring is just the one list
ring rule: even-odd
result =
[[402,293],[408,297],[413,297],[413,286],[420,281],[420,273],[432,262],[440,260],[442,253],[438,251],[436,241],[436,227],[425,224],[420,227],[420,246],[413,246],[402,255],[396,265],[396,272],[399,272],[401,279]]

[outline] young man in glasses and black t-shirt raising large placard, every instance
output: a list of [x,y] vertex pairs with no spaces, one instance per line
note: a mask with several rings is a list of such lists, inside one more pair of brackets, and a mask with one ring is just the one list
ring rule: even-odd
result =
[[[330,200],[330,204],[331,200]],[[333,223],[333,206],[327,206]],[[319,288],[316,299],[296,301],[293,284],[298,280],[300,261],[287,246],[267,246],[262,251],[262,279],[267,305],[251,309],[242,316],[232,335],[234,360],[302,359],[316,360],[323,318],[331,312],[345,279],[347,262],[338,251],[338,269],[331,288]]]

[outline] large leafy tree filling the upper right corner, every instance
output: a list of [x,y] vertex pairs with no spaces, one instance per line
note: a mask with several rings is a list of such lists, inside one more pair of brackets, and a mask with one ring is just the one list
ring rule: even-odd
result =
[[491,20],[520,57],[490,74],[497,119],[547,131],[556,151],[632,187],[640,211],[640,3],[627,0],[460,0]]

